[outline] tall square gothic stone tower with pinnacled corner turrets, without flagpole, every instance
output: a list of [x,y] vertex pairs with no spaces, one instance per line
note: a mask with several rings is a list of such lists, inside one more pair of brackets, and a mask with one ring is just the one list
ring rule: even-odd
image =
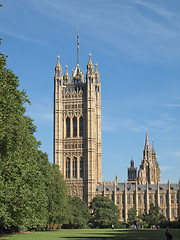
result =
[[77,61],[71,82],[67,66],[62,75],[58,56],[54,76],[54,163],[59,165],[69,193],[89,203],[101,182],[101,83],[91,54],[86,81]]

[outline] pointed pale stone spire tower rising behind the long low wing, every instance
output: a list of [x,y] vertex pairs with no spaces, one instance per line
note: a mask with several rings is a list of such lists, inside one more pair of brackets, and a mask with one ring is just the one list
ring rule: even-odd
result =
[[154,144],[152,150],[149,146],[148,134],[146,131],[146,140],[143,151],[143,160],[138,171],[138,184],[156,184],[160,182],[161,172],[157,161]]

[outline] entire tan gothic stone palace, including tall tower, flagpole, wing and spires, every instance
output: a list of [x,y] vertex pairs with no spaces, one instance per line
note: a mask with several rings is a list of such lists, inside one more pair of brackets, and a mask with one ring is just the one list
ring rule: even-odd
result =
[[91,54],[84,76],[77,65],[72,78],[66,66],[62,73],[58,56],[54,76],[54,163],[59,165],[71,195],[88,204],[96,195],[109,197],[119,209],[119,219],[127,221],[128,210],[148,212],[150,203],[157,204],[169,220],[180,217],[180,181],[161,184],[161,171],[154,144],[150,147],[146,130],[143,160],[139,169],[130,161],[127,182],[102,181],[101,169],[101,82],[97,64]]

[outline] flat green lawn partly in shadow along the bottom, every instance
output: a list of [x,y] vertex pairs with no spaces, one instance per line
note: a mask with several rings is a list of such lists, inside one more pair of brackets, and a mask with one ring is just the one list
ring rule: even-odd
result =
[[[180,240],[180,229],[173,229],[173,240]],[[3,236],[1,240],[166,240],[165,229],[160,230],[58,230],[35,233],[18,233]]]

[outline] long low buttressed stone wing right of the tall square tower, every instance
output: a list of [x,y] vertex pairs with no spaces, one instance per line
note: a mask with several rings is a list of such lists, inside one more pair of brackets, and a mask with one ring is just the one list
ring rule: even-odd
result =
[[127,221],[128,210],[136,207],[137,214],[148,213],[150,203],[157,204],[160,212],[169,220],[180,216],[180,181],[179,184],[138,184],[103,182],[96,187],[96,195],[108,197],[119,209],[121,221]]

